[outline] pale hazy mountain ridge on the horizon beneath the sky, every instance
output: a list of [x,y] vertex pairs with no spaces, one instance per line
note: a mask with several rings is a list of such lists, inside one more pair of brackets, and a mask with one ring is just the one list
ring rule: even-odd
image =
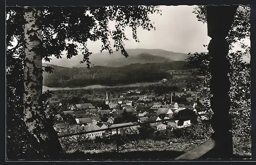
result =
[[[120,51],[114,51],[113,54],[109,54],[108,52],[91,54],[89,61],[91,62],[91,65],[94,66],[120,67],[134,63],[144,64],[184,61],[187,58],[187,54],[170,52],[163,49],[126,49],[126,51],[129,55],[128,58],[125,58]],[[71,59],[62,57],[61,59],[51,60],[50,63],[44,63],[69,68],[86,67],[86,63],[80,64],[82,59],[83,55],[79,54],[78,56],[72,57]]]

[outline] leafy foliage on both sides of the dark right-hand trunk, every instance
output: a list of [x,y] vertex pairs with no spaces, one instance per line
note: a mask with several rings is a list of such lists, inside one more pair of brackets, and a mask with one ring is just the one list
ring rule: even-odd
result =
[[[193,11],[198,21],[207,23],[206,6],[198,6]],[[230,97],[231,108],[250,106],[250,64],[243,60],[244,56],[250,57],[250,47],[244,44],[244,40],[250,36],[250,8],[248,5],[239,5],[235,14],[235,20],[231,25],[231,30],[227,36],[227,42],[230,45],[228,60],[230,62],[231,72],[229,78],[231,81]],[[235,45],[239,45],[239,50],[234,51]],[[208,46],[208,45],[204,45]],[[190,67],[197,68],[192,72],[193,78],[187,84],[201,95],[210,99],[210,78],[209,71],[210,55],[208,52],[189,54],[188,62]],[[210,107],[207,107],[209,109]]]

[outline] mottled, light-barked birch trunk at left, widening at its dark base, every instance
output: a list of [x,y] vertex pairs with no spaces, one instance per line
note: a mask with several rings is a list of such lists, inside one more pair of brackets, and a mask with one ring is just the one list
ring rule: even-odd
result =
[[[29,132],[35,137],[36,152],[31,158],[55,157],[62,153],[56,132],[47,121],[42,105],[42,38],[41,11],[25,7],[24,12],[24,121]],[[31,154],[31,153],[30,153]]]

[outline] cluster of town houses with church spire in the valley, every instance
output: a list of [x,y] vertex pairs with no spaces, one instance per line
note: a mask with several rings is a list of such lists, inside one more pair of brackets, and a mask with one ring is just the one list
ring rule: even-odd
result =
[[[195,98],[184,98],[183,102],[172,102],[172,95],[170,102],[164,101],[165,96],[154,97],[153,95],[144,95],[134,102],[131,100],[122,101],[120,98],[110,100],[106,94],[105,103],[109,109],[102,110],[101,107],[95,107],[91,103],[83,103],[71,105],[68,111],[63,111],[61,114],[56,115],[58,120],[62,120],[65,115],[70,115],[74,119],[73,124],[68,124],[71,132],[82,131],[88,132],[86,137],[95,138],[102,136],[115,135],[118,131],[119,134],[124,132],[138,132],[138,123],[150,123],[150,126],[155,131],[165,130],[170,128],[185,128],[191,125],[190,120],[186,120],[183,125],[178,125],[178,120],[171,120],[174,114],[179,111],[189,109],[197,113],[195,109]],[[154,99],[153,99],[154,98]],[[128,112],[130,115],[137,117],[137,122],[116,123],[115,120]],[[105,119],[103,121],[103,118]],[[165,122],[158,122],[160,120],[170,119]],[[124,127],[116,129],[117,127]],[[66,123],[59,123],[54,125],[54,129],[67,127]]]

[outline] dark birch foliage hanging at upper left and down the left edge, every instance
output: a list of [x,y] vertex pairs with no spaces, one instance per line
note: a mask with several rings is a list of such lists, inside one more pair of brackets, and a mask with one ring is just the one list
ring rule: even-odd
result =
[[[43,48],[41,58],[50,61],[54,55],[61,58],[71,58],[78,53],[84,55],[81,62],[90,66],[87,41],[102,41],[102,49],[112,53],[110,39],[114,40],[114,48],[121,50],[128,56],[124,49],[124,41],[128,38],[124,29],[130,27],[133,39],[138,41],[136,29],[154,29],[149,19],[149,14],[160,13],[156,6],[91,6],[91,7],[37,7],[41,10],[41,37]],[[24,8],[6,8],[6,76],[7,76],[7,141],[8,144],[21,142],[20,146],[8,145],[8,158],[24,157],[31,150],[30,134],[23,121],[23,93],[24,93]],[[109,21],[116,21],[115,29],[108,28]],[[52,72],[50,67],[42,71]],[[46,102],[47,104],[47,102]],[[47,107],[47,106],[46,106]],[[26,141],[28,140],[28,141]],[[23,155],[22,155],[23,154]]]

